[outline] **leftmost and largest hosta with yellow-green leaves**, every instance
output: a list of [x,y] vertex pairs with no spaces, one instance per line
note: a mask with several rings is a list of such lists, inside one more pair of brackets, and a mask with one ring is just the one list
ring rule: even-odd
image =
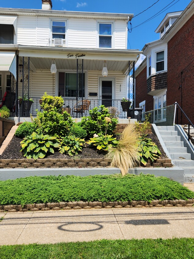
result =
[[53,148],[59,147],[59,140],[49,135],[37,134],[25,137],[21,142],[21,150],[24,157],[30,159],[44,158],[48,152],[54,153]]

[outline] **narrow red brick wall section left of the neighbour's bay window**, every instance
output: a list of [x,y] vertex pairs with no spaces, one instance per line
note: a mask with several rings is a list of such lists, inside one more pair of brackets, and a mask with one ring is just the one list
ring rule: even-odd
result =
[[146,100],[146,111],[153,110],[153,96],[147,94],[147,68],[144,68],[135,78],[135,107],[139,107],[139,103],[144,100]]

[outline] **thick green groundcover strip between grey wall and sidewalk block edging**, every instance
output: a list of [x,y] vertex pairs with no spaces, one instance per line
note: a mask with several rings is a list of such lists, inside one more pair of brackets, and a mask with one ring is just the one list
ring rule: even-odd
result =
[[194,198],[194,192],[154,175],[30,176],[0,181],[0,205],[62,201],[131,201]]

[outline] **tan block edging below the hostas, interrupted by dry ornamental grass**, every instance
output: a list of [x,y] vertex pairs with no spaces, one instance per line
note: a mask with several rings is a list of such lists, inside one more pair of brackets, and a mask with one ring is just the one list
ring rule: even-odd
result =
[[[43,158],[43,159],[0,159],[0,168],[60,168],[60,167],[108,167],[111,164],[108,158]],[[172,167],[170,159],[149,161],[146,167]]]

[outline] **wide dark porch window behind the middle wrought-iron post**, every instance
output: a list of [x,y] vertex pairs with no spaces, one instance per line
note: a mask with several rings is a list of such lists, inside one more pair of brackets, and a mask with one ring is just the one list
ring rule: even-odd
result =
[[[82,90],[83,85],[83,90]],[[78,97],[85,97],[85,73],[78,74]],[[59,72],[59,96],[62,97],[77,97],[77,74]]]

